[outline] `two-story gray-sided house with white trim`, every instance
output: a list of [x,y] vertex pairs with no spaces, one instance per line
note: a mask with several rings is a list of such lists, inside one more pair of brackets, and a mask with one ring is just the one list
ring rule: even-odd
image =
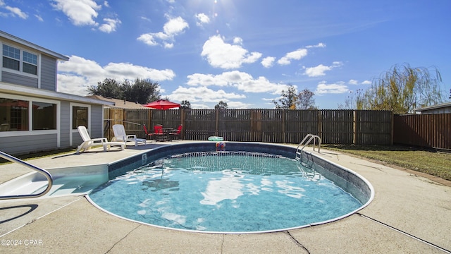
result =
[[76,147],[77,127],[103,136],[99,99],[56,92],[58,61],[68,57],[0,30],[0,150],[11,155]]

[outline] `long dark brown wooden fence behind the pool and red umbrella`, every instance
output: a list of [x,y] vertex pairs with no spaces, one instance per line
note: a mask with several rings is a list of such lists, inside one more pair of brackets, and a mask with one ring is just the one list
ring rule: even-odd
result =
[[126,132],[144,137],[142,125],[177,128],[181,138],[207,140],[217,135],[228,141],[299,143],[305,135],[319,135],[322,143],[390,145],[391,111],[287,109],[105,109],[105,130],[122,123]]

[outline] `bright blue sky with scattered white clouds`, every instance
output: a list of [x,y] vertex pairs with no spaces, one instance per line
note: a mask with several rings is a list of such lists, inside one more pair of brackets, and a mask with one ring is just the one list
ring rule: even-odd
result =
[[451,1],[0,0],[0,30],[70,57],[58,92],[149,78],[192,108],[273,108],[287,85],[336,109],[395,64],[451,89]]

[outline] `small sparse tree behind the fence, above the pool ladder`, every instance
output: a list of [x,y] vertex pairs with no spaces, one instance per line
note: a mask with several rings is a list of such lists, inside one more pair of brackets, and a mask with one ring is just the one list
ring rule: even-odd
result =
[[[276,109],[316,109],[314,92],[304,89],[297,93],[293,85],[288,86],[288,90],[282,90],[281,98],[276,102],[273,99]],[[280,102],[280,104],[279,104]]]

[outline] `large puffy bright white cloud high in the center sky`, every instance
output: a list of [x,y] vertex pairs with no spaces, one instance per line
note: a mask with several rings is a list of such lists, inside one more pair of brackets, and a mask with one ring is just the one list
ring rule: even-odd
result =
[[[234,41],[240,42],[236,38]],[[254,63],[261,57],[259,52],[249,54],[240,45],[224,42],[219,35],[210,37],[204,43],[201,55],[206,57],[211,66],[225,69],[240,68],[243,63]]]

